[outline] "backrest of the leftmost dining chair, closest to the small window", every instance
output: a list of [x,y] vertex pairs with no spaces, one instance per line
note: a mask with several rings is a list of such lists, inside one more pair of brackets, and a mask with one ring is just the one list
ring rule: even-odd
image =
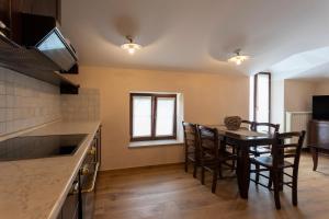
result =
[[188,152],[191,148],[193,148],[193,150],[197,150],[198,138],[197,138],[196,125],[191,123],[185,123],[185,122],[182,122],[182,124],[184,129],[185,152]]

